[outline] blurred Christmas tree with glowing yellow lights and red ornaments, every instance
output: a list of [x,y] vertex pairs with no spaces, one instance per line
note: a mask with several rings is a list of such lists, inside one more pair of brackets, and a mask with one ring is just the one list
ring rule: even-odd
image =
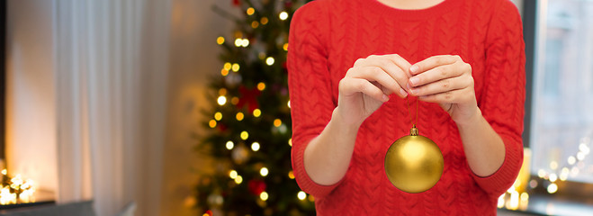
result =
[[292,124],[286,53],[294,11],[307,0],[234,0],[241,16],[214,7],[236,22],[220,36],[220,75],[212,77],[206,134],[197,149],[216,161],[198,180],[200,213],[310,215],[314,198],[292,175]]

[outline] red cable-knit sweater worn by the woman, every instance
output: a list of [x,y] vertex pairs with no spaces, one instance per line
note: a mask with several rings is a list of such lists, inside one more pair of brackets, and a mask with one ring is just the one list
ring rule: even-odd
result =
[[[399,10],[375,0],[317,0],[294,14],[289,41],[292,168],[301,189],[315,197],[319,215],[496,214],[498,197],[513,184],[523,160],[525,45],[514,4],[446,0],[424,10]],[[454,121],[438,104],[420,102],[418,130],[443,151],[444,172],[424,193],[395,188],[385,175],[385,153],[411,125],[406,100],[391,94],[358,130],[346,176],[334,185],[310,179],[303,152],[328,124],[340,79],[356,59],[391,53],[411,64],[459,55],[472,66],[478,106],[506,148],[496,173],[473,174]]]

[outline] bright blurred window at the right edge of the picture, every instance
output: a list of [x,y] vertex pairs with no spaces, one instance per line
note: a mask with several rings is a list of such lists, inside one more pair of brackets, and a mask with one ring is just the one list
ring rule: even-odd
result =
[[542,0],[535,14],[532,174],[591,184],[593,1]]

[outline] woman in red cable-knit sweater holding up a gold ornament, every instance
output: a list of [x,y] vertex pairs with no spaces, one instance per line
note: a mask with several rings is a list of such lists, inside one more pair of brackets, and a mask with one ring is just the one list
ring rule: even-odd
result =
[[[514,4],[317,0],[294,14],[289,42],[292,167],[319,215],[496,214],[523,160]],[[383,162],[417,102],[445,166],[431,189],[405,193]]]

